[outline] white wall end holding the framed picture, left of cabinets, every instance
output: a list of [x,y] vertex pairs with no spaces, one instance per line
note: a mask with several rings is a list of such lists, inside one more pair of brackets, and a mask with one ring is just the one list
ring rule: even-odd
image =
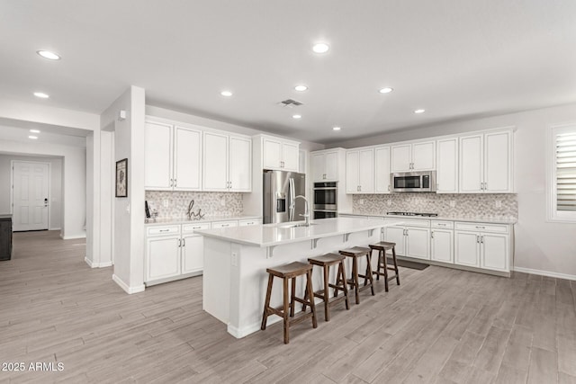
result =
[[[127,112],[123,121],[118,119],[121,110]],[[112,239],[112,279],[128,293],[144,290],[144,121],[144,89],[136,86],[101,115],[102,128],[113,126],[114,161],[128,158],[128,198],[113,201]]]

